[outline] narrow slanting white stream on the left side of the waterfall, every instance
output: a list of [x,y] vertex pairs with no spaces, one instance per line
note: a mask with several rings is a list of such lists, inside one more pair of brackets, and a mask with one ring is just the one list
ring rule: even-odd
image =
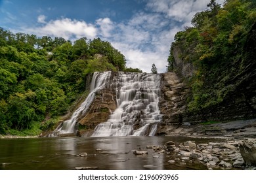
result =
[[111,75],[111,72],[104,72],[104,73],[96,72],[93,74],[93,79],[91,81],[91,86],[90,86],[90,93],[85,99],[85,101],[81,104],[79,108],[77,108],[77,110],[75,110],[70,120],[66,120],[65,122],[60,124],[53,131],[53,133],[51,133],[50,136],[54,137],[56,135],[75,133],[75,125],[77,124],[77,118],[81,114],[85,114],[85,112],[87,112],[88,108],[93,102],[93,99],[95,97],[95,92],[97,90],[100,90],[101,88],[104,88],[106,83],[109,82],[110,80],[110,75]]

